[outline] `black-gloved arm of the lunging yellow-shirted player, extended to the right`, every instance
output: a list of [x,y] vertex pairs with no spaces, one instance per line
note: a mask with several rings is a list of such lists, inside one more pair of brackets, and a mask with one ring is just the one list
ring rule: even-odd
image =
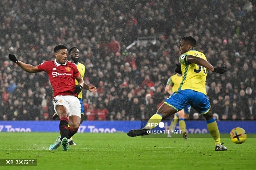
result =
[[196,56],[193,56],[193,55],[187,56],[187,60],[190,63],[195,63],[195,64],[198,64],[198,65],[201,65],[201,66],[211,70],[212,72],[223,74],[227,70],[226,66],[214,67],[208,61],[204,60],[203,58],[196,57]]

